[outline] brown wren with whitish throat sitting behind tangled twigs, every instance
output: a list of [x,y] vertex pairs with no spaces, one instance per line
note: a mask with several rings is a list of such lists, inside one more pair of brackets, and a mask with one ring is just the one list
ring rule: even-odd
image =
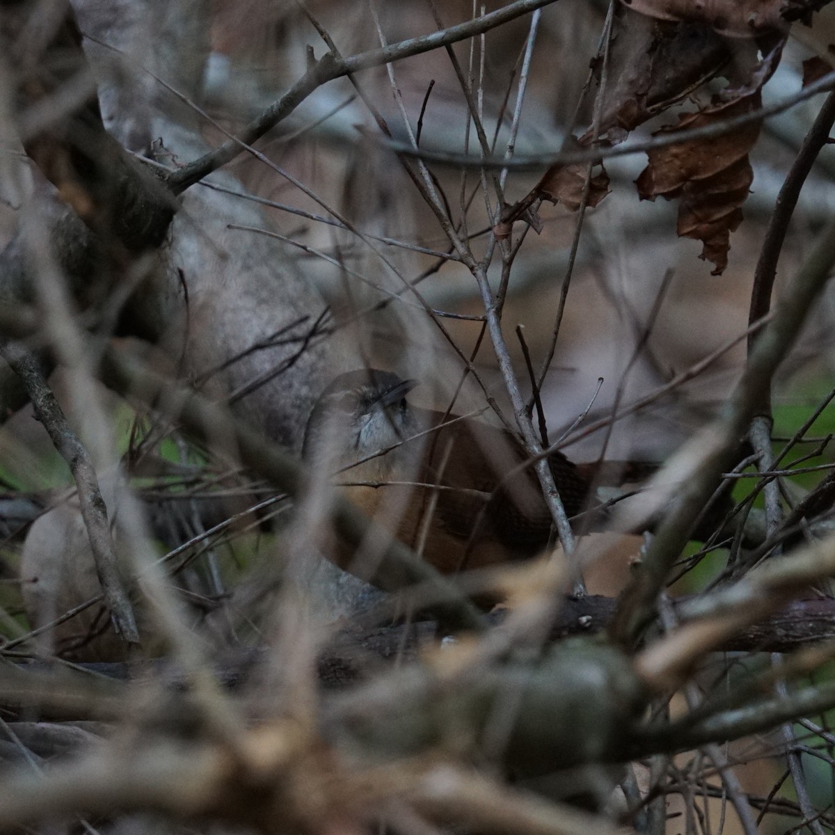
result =
[[[338,473],[347,498],[444,574],[542,553],[553,519],[519,439],[413,405],[416,386],[374,368],[338,375],[311,411],[302,458]],[[548,461],[569,517],[599,504],[569,458]],[[326,555],[351,570],[347,547]]]

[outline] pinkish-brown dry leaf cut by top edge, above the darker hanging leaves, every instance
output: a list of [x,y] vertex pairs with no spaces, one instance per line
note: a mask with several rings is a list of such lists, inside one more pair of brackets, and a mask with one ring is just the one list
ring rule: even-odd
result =
[[787,33],[782,17],[786,0],[621,0],[629,8],[657,20],[701,21],[729,38],[758,38]]

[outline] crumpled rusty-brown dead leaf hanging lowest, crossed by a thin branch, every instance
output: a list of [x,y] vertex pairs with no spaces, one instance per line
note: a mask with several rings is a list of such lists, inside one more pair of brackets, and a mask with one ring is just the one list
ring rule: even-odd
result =
[[[751,112],[760,105],[759,93],[723,104],[714,104],[698,113],[685,114],[674,127],[655,135],[701,128]],[[658,195],[667,200],[680,198],[678,234],[701,240],[701,258],[711,261],[711,275],[721,275],[727,266],[731,232],[742,220],[741,205],[751,187],[753,171],[748,152],[757,141],[761,123],[749,122],[739,129],[713,139],[651,149],[649,164],[636,180],[642,200]]]

